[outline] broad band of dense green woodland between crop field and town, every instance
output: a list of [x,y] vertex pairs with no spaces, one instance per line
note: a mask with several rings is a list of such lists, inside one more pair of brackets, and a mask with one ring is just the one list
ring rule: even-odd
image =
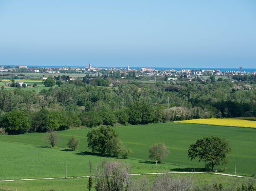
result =
[[[69,81],[39,94],[0,90],[0,128],[9,134],[100,124],[148,124],[211,117],[256,116],[256,90],[229,80],[140,83]],[[109,81],[108,81],[109,82]],[[99,86],[103,85],[103,86]],[[168,110],[169,98],[169,110]]]

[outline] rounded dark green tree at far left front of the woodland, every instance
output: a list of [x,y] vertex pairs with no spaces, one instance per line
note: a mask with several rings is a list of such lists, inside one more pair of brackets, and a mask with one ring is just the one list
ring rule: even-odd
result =
[[6,113],[0,121],[0,126],[9,134],[20,134],[29,130],[30,120],[27,115],[18,110]]

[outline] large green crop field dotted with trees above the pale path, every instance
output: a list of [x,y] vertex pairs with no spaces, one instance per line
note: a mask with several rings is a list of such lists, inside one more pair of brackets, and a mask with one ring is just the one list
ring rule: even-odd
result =
[[[190,161],[187,157],[187,150],[189,145],[195,143],[198,138],[212,135],[226,138],[232,147],[229,163],[225,165],[227,167],[225,173],[234,174],[234,159],[236,159],[238,175],[251,176],[256,171],[256,129],[172,122],[117,126],[114,129],[117,130],[124,145],[132,150],[128,159],[103,157],[91,153],[87,148],[86,140],[87,132],[90,129],[59,131],[61,142],[58,148],[50,148],[47,143],[42,141],[45,133],[0,135],[2,153],[0,156],[0,180],[64,177],[66,162],[68,176],[89,175],[89,160],[93,161],[94,167],[96,163],[103,160],[121,160],[131,165],[132,173],[154,173],[156,165],[154,161],[148,159],[148,149],[153,143],[159,142],[166,144],[170,154],[162,164],[158,164],[158,172],[204,171],[202,169],[204,163],[197,160]],[[66,146],[72,135],[81,139],[77,151],[70,151]],[[219,170],[220,167],[217,166],[216,169]],[[8,184],[15,185],[14,182],[3,185]],[[18,185],[22,184],[25,183],[18,183]],[[0,183],[0,188],[1,185],[2,183]]]

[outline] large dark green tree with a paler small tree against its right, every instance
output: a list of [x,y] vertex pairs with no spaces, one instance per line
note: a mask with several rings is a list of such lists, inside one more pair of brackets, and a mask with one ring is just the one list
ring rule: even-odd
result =
[[110,126],[94,128],[87,134],[88,148],[103,155],[110,139],[118,137],[117,132]]

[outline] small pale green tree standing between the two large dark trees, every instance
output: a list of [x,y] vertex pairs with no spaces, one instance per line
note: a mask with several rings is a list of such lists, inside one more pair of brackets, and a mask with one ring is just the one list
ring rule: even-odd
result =
[[149,150],[149,158],[161,163],[164,158],[167,157],[169,151],[164,143],[155,143]]

